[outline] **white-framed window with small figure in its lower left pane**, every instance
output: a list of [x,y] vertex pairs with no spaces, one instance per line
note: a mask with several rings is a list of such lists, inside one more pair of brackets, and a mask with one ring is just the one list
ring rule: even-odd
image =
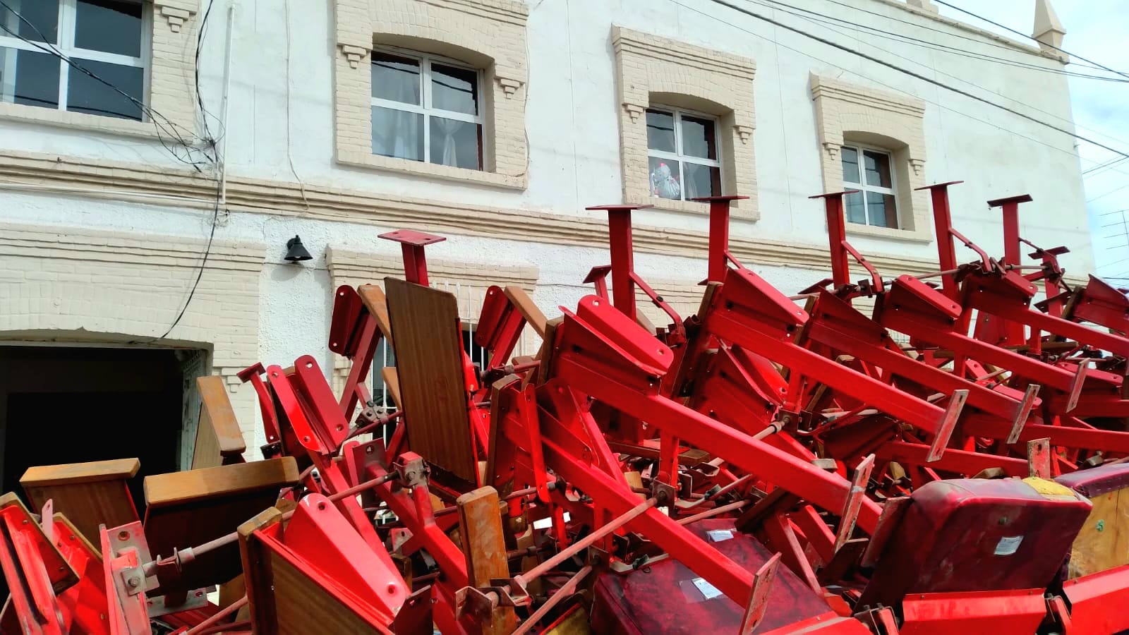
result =
[[647,110],[650,195],[686,200],[721,194],[717,121],[683,111]]

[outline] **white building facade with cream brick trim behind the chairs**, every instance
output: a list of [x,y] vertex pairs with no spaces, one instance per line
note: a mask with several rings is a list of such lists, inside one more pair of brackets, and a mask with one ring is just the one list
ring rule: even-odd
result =
[[[5,3],[0,340],[178,349],[226,379],[251,447],[236,374],[313,354],[340,381],[332,292],[399,273],[392,229],[447,236],[431,278],[467,328],[491,284],[550,314],[588,293],[604,203],[654,205],[636,266],[684,314],[706,272],[689,199],[710,194],[749,197],[733,251],[793,293],[830,275],[808,197],[847,188],[887,278],[936,268],[917,188],[957,180],[955,224],[990,252],[986,201],[1030,193],[1024,237],[1093,269],[1066,60],[927,0]],[[283,260],[296,235],[313,260]]]

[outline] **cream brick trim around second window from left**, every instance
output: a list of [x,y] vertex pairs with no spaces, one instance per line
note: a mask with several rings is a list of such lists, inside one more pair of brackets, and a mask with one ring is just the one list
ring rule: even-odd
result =
[[[507,190],[528,184],[527,8],[516,0],[335,0],[334,150],[339,164]],[[373,154],[371,52],[396,46],[482,71],[483,169]]]

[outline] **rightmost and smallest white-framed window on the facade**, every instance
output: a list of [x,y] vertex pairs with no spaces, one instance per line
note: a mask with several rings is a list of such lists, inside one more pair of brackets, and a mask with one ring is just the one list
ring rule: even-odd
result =
[[847,194],[847,221],[896,229],[898,206],[890,154],[861,146],[843,146],[840,155],[843,186],[858,190]]

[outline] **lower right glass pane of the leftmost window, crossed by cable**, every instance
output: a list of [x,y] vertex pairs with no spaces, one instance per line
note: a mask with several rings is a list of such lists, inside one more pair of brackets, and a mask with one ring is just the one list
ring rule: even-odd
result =
[[75,63],[117,87],[121,93],[70,67],[67,75],[68,111],[141,121],[141,106],[125,95],[138,102],[145,99],[145,69],[94,60],[75,59]]

